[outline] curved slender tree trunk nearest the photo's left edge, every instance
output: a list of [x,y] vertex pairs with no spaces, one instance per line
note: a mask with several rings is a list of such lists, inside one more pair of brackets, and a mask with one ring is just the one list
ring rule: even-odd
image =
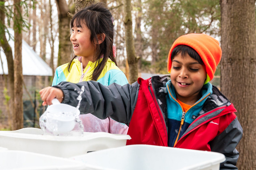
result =
[[[0,0],[0,2],[4,2],[4,0]],[[1,9],[0,7],[0,22],[2,22],[3,25],[4,24],[4,18],[5,18],[5,14],[4,14],[4,10]],[[8,110],[8,125],[10,127],[10,129],[14,129],[13,128],[13,106],[14,106],[14,69],[13,69],[13,56],[12,56],[12,48],[11,46],[8,44],[8,41],[5,37],[5,32],[3,32],[3,34],[0,35],[0,37],[2,37],[1,41],[0,41],[0,46],[2,46],[5,56],[6,56],[6,60],[7,60],[7,65],[8,65],[8,85],[6,87],[6,89],[8,89],[8,95],[10,96],[10,100],[8,101],[7,105],[6,105],[6,110]]]

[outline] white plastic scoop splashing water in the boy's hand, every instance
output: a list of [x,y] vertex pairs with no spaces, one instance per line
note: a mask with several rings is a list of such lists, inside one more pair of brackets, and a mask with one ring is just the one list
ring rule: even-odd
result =
[[52,105],[48,106],[44,114],[40,117],[40,127],[52,134],[62,134],[70,132],[76,124],[76,117],[80,111],[68,104],[60,103],[58,99],[52,100]]

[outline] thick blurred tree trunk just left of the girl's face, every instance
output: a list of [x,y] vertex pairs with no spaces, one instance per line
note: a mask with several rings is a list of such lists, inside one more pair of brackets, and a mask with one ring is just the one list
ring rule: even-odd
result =
[[71,60],[72,44],[70,42],[70,18],[68,18],[68,5],[66,0],[56,0],[59,15],[59,53],[58,64],[68,63]]

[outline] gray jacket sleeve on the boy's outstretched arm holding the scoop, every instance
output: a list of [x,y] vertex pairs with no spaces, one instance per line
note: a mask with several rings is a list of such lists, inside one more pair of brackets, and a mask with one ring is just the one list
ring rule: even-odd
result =
[[62,103],[76,107],[78,104],[76,98],[82,86],[85,89],[79,108],[81,114],[91,113],[100,119],[111,117],[117,122],[129,125],[138,97],[140,87],[138,82],[124,86],[116,83],[104,86],[97,81],[83,81],[76,84],[63,81],[54,87],[63,91]]

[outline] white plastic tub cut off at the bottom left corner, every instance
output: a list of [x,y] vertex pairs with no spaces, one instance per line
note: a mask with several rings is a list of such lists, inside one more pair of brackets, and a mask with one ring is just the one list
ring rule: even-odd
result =
[[82,170],[81,162],[26,151],[1,151],[1,170]]

